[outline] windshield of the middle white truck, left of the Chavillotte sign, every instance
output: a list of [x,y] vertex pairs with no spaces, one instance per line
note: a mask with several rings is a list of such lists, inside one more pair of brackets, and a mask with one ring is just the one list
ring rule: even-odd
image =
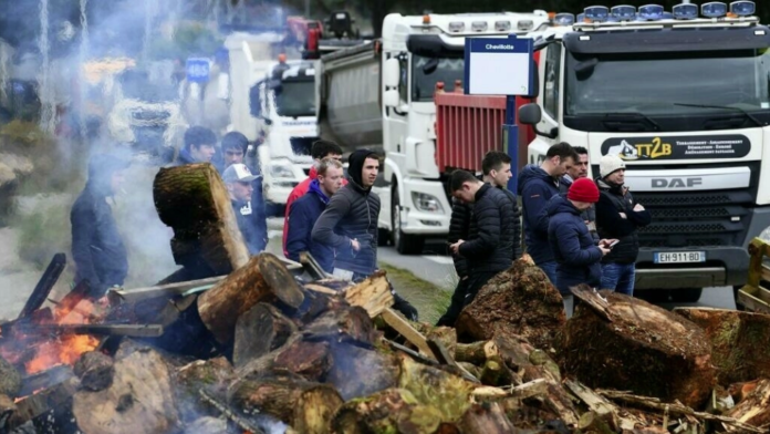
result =
[[455,80],[462,80],[465,59],[424,58],[412,55],[412,101],[433,101],[436,83],[444,82],[444,90],[455,90]]

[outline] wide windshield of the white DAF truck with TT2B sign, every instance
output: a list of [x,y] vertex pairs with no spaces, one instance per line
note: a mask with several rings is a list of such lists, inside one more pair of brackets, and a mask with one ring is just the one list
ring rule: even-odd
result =
[[743,111],[770,116],[767,49],[566,58],[565,122],[568,116],[626,113],[714,117]]

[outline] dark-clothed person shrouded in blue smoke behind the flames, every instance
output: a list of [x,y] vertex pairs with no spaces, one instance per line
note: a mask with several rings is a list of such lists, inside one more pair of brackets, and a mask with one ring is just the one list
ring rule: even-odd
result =
[[113,196],[113,174],[127,166],[112,155],[92,157],[89,180],[70,213],[75,282],[87,280],[94,298],[104,296],[112,286],[122,286],[128,273],[126,248],[107,203]]

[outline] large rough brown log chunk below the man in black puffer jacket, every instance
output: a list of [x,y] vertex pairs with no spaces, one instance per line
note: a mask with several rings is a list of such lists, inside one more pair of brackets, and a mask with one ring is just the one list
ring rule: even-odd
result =
[[479,290],[457,319],[460,342],[489,340],[497,333],[526,338],[549,350],[564,328],[562,297],[534,264],[519,259]]

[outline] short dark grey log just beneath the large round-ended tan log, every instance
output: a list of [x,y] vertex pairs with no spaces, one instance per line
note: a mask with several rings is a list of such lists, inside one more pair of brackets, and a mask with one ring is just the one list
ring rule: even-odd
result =
[[296,324],[278,309],[258,303],[238,318],[232,363],[241,366],[280,348],[296,330]]

